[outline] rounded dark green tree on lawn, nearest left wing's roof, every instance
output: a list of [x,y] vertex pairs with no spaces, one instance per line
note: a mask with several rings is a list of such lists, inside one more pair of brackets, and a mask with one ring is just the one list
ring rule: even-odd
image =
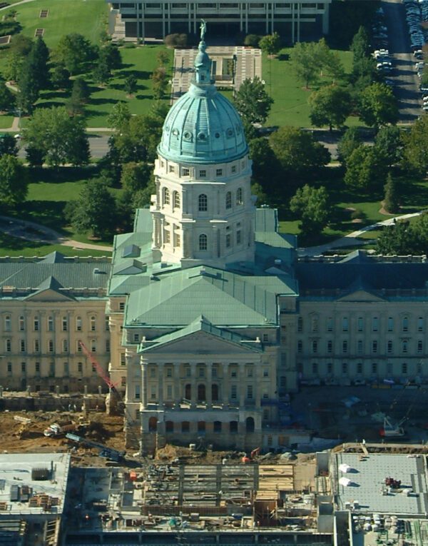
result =
[[104,237],[114,232],[116,201],[104,181],[87,181],[78,200],[71,203],[66,206],[66,217],[78,233]]

